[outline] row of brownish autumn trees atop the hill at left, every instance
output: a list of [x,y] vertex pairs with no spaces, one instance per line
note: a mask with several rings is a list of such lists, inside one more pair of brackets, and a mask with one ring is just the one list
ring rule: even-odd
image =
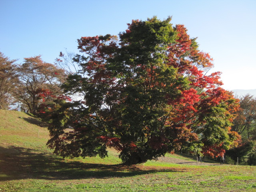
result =
[[22,64],[15,62],[0,52],[0,109],[19,108],[39,115],[40,105],[63,93],[60,86],[66,72],[40,56],[24,58]]

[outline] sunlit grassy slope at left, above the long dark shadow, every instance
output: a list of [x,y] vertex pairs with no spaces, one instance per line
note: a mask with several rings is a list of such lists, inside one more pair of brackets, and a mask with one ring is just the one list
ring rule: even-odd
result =
[[0,144],[44,149],[49,138],[46,124],[32,115],[18,111],[0,110]]

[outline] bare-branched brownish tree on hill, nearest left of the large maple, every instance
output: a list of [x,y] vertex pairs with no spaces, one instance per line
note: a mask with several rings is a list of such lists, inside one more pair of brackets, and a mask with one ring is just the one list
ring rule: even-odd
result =
[[54,64],[46,63],[41,56],[24,58],[24,63],[18,66],[18,88],[15,95],[21,102],[21,109],[37,115],[40,104],[52,100],[61,94],[60,86],[66,80],[63,69]]

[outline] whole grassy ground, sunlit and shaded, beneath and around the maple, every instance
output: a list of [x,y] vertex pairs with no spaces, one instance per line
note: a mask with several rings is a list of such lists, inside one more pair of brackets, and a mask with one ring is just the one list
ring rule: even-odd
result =
[[[39,138],[38,138],[39,130]],[[256,191],[256,167],[149,161],[122,166],[110,150],[101,159],[62,159],[46,147],[48,131],[26,113],[0,110],[0,191]]]

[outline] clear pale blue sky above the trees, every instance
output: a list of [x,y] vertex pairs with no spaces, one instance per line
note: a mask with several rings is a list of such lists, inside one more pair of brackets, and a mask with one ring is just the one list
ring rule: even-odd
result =
[[256,0],[0,0],[0,52],[53,63],[64,48],[77,52],[81,36],[117,35],[152,16],[198,37],[224,88],[256,89]]

